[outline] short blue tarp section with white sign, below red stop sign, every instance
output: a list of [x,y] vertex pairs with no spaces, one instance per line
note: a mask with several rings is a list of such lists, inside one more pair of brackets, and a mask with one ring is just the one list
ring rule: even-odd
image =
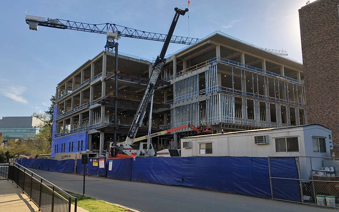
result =
[[[112,170],[109,170],[109,163],[112,162]],[[106,163],[107,177],[112,179],[123,179],[130,181],[132,178],[131,158],[111,159]]]

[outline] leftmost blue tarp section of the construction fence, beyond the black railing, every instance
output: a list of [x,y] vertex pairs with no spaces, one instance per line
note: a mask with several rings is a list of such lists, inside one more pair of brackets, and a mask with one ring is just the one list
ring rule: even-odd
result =
[[[21,158],[21,166],[26,168],[40,169],[44,171],[55,171],[63,173],[74,173],[74,160],[52,160],[52,159],[36,159],[36,158]],[[19,160],[18,160],[19,162]]]

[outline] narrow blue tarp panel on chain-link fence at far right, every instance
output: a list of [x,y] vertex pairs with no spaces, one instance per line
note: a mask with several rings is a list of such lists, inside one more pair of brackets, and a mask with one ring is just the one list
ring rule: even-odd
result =
[[300,185],[295,157],[270,158],[273,198],[300,202]]

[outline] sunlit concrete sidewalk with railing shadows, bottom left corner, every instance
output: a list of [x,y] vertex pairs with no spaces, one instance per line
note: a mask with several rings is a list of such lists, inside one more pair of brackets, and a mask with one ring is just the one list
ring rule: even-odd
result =
[[[23,194],[11,181],[0,181],[0,212],[36,212],[38,207],[29,201],[29,197]],[[71,211],[74,211],[74,205],[71,205]],[[77,212],[89,212],[83,208],[77,207]]]

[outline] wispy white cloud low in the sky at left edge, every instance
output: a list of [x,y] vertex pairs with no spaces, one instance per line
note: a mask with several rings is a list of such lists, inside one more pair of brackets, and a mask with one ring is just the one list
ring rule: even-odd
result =
[[27,100],[24,99],[22,94],[27,90],[26,87],[17,85],[14,82],[8,80],[0,80],[0,94],[8,97],[16,102],[27,104]]

